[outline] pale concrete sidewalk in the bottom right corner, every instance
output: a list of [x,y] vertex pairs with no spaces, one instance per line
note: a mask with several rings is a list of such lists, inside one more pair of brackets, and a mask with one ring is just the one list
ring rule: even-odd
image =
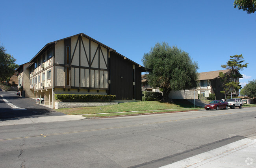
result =
[[256,168],[256,136],[244,138],[161,168]]

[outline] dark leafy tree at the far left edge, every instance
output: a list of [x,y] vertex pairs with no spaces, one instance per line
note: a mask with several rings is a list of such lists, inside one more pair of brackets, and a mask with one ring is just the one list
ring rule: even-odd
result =
[[18,67],[15,61],[16,59],[12,55],[6,53],[5,47],[0,45],[0,81],[10,80]]

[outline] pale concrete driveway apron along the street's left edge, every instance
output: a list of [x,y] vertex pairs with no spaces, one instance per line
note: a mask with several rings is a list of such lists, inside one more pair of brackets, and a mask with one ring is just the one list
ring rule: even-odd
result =
[[41,117],[20,117],[0,119],[0,126],[11,126],[19,124],[35,124],[43,122],[72,121],[85,119],[82,115],[63,115],[63,116],[41,116]]

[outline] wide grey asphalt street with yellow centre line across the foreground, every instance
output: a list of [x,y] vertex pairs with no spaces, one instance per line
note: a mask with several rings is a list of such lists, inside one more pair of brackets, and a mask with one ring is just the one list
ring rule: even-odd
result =
[[160,167],[256,135],[256,108],[0,126],[0,167]]

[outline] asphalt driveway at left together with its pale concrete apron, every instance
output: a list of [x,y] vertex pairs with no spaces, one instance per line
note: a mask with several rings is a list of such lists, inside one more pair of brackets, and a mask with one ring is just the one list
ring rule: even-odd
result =
[[84,119],[54,111],[35,99],[22,98],[15,91],[0,92],[0,126]]

